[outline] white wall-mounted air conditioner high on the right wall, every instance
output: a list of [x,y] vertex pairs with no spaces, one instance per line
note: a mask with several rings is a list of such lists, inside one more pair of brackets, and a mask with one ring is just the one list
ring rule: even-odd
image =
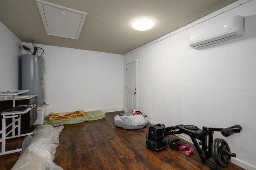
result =
[[234,16],[190,34],[190,46],[203,47],[244,36],[244,17]]

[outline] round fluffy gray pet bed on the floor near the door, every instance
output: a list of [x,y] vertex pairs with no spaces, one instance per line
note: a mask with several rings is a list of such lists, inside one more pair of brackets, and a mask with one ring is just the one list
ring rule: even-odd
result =
[[148,124],[148,119],[144,115],[132,115],[132,114],[122,114],[116,115],[114,117],[115,124],[117,127],[124,129],[135,130],[143,128]]

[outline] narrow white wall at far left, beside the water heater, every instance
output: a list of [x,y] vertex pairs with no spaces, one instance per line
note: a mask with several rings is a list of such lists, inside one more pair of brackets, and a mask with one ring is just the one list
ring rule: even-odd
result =
[[22,42],[0,22],[0,92],[19,90]]

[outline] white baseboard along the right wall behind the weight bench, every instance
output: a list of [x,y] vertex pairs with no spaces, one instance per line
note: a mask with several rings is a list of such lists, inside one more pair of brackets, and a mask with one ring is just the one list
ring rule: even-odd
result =
[[[152,122],[150,120],[148,120],[148,123],[155,125],[157,123]],[[186,134],[175,134],[175,136],[178,136],[179,138],[182,138],[183,140],[186,140],[187,142],[189,142],[190,144],[193,144],[191,138],[189,136],[187,136]],[[256,170],[256,167],[247,164],[245,162],[242,162],[241,160],[237,159],[237,158],[231,158],[231,162],[237,166],[240,166],[241,168],[244,168],[246,170]]]

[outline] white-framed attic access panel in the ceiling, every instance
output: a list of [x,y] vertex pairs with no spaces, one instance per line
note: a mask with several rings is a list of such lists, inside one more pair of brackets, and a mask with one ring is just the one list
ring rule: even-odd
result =
[[36,0],[47,35],[78,40],[85,12]]

